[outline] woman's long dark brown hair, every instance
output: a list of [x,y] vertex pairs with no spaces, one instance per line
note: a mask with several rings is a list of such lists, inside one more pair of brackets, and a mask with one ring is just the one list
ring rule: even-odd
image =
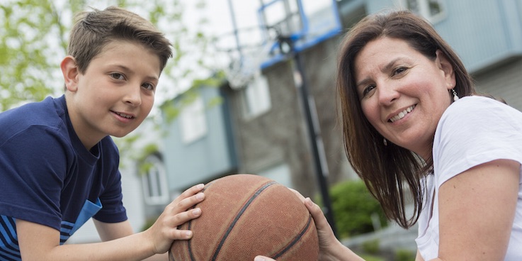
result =
[[[341,44],[337,89],[348,160],[373,196],[380,201],[387,217],[403,228],[409,228],[416,223],[423,206],[424,185],[421,177],[429,172],[433,163],[398,145],[384,145],[382,135],[363,114],[355,84],[354,66],[358,53],[369,42],[382,37],[404,40],[431,60],[435,60],[436,50],[441,50],[453,65],[458,96],[475,94],[475,88],[463,62],[448,43],[431,24],[409,11],[388,11],[366,16],[348,32]],[[405,209],[408,195],[414,201],[412,215]]]

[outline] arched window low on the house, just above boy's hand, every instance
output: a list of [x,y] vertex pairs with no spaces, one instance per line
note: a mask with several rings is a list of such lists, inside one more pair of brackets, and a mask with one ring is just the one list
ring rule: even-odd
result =
[[142,187],[145,203],[160,205],[169,202],[169,186],[166,171],[159,155],[150,155],[144,162],[147,172],[142,175]]

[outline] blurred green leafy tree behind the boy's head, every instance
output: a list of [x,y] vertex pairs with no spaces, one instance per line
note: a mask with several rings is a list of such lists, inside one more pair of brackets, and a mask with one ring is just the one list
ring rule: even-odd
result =
[[[4,0],[0,6],[0,111],[62,93],[59,62],[67,53],[73,15],[90,6],[121,6],[135,11],[171,40],[174,58],[162,73],[156,108],[180,91],[198,87],[201,78],[213,73],[208,59],[212,38],[202,30],[208,24],[206,18],[189,28],[183,16],[187,4],[194,9],[205,8],[205,0]],[[176,111],[164,107],[171,114]]]

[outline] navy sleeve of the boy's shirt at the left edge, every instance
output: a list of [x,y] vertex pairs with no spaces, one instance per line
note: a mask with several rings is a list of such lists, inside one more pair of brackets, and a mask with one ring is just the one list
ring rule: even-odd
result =
[[33,126],[0,145],[1,213],[59,229],[67,150],[59,132]]

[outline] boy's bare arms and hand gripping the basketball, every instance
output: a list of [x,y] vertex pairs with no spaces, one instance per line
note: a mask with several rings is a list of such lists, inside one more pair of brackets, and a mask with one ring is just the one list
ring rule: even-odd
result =
[[[60,233],[55,228],[17,219],[16,233],[22,260],[144,260],[156,253],[165,253],[173,240],[192,237],[191,231],[178,230],[177,226],[200,216],[200,209],[190,208],[203,201],[202,189],[203,184],[199,184],[184,191],[166,206],[147,231],[102,243],[59,245]],[[102,233],[104,240],[130,231],[128,223],[112,225],[102,225],[110,230]]]

